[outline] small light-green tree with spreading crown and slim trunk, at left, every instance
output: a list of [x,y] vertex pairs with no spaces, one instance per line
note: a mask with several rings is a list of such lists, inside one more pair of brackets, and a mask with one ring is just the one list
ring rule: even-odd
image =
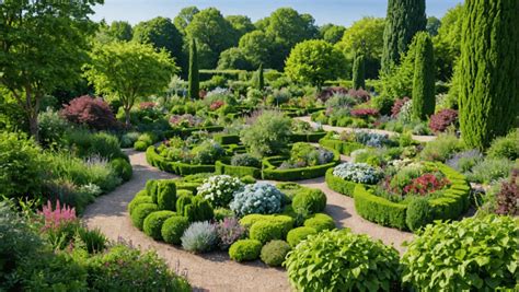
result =
[[177,70],[164,49],[135,42],[96,44],[90,58],[84,75],[99,94],[123,104],[127,126],[137,98],[160,93]]

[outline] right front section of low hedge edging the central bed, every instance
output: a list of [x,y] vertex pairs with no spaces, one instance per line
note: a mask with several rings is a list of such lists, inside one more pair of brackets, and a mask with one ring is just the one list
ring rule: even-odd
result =
[[315,177],[324,176],[326,171],[331,167],[337,165],[341,161],[341,155],[337,151],[334,152],[334,160],[326,164],[321,164],[316,166],[308,166],[300,168],[289,168],[289,170],[277,170],[276,163],[285,161],[285,156],[272,156],[263,159],[263,179],[273,179],[273,180],[301,180],[310,179]]

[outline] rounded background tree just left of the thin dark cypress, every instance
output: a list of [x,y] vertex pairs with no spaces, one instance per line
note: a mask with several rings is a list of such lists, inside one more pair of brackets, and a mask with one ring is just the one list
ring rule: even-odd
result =
[[151,44],[157,51],[165,49],[183,71],[187,70],[187,60],[182,51],[182,34],[170,19],[159,16],[138,23],[134,28],[134,40]]

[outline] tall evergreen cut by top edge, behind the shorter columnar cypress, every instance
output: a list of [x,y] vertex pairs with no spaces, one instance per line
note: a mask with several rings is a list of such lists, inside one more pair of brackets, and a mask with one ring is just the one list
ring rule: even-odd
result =
[[425,31],[425,0],[389,0],[387,14],[382,51],[384,72],[388,72],[392,65],[399,63],[413,36]]

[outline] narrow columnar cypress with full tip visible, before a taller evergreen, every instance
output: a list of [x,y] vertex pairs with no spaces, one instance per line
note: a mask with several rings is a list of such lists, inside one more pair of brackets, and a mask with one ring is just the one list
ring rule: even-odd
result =
[[435,113],[435,57],[432,40],[426,32],[416,36],[413,78],[413,118],[425,120]]

